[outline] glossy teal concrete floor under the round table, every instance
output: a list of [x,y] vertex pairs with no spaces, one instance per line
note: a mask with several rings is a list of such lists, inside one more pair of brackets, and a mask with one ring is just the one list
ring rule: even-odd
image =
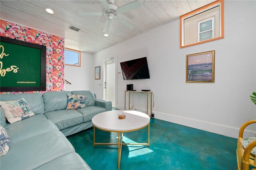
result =
[[[123,142],[147,142],[148,128],[124,133]],[[118,142],[96,129],[96,142]],[[92,170],[118,169],[116,145],[93,146],[93,128],[68,136]],[[237,139],[152,118],[150,147],[122,147],[120,170],[236,170]]]

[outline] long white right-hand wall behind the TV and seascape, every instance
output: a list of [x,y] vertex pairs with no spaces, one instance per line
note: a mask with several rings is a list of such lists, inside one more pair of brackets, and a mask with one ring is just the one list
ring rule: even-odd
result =
[[[154,92],[157,119],[237,138],[242,123],[256,117],[249,97],[256,91],[255,11],[255,1],[224,1],[224,39],[180,49],[180,21],[174,20],[94,54],[93,65],[116,55],[120,72],[120,62],[146,56],[150,79],[118,79],[118,109],[124,109],[126,84],[133,83],[134,89]],[[185,83],[186,55],[212,50],[215,83]],[[103,79],[93,79],[98,98],[100,84]],[[134,108],[144,106],[134,96]],[[255,131],[255,126],[248,127],[246,135],[255,136]]]

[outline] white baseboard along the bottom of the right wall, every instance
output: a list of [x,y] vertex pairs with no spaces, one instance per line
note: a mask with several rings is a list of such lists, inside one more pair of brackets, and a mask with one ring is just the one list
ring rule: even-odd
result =
[[[192,127],[200,130],[205,130],[207,132],[212,132],[216,134],[221,134],[224,136],[238,138],[239,128],[228,127],[224,125],[218,125],[214,123],[199,121],[196,119],[190,119],[186,117],[179,117],[176,115],[170,115],[166,113],[154,112],[155,118],[163,121],[168,121],[171,123],[176,123],[179,125],[184,125],[187,127]],[[255,136],[256,132],[244,130],[244,138]]]

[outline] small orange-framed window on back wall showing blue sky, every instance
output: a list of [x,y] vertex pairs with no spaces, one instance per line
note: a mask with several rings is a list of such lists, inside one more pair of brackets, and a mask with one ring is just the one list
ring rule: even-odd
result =
[[65,65],[80,67],[81,51],[65,48]]

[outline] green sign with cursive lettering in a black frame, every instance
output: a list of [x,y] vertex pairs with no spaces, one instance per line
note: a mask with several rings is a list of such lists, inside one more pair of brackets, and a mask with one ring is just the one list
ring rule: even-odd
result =
[[0,38],[0,91],[45,91],[46,46]]

